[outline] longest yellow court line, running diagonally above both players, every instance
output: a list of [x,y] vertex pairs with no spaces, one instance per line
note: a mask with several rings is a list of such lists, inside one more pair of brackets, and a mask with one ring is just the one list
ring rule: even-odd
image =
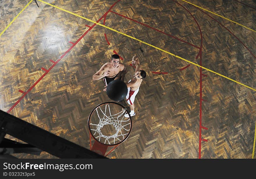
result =
[[163,52],[165,52],[165,53],[168,53],[168,54],[170,54],[170,55],[172,55],[172,56],[175,56],[175,57],[177,57],[177,58],[179,58],[179,59],[181,59],[181,60],[184,60],[184,61],[186,61],[186,62],[188,62],[188,63],[191,63],[191,64],[193,64],[193,65],[195,65],[195,66],[201,67],[202,69],[205,69],[205,70],[207,70],[207,71],[210,71],[210,72],[212,72],[212,73],[214,73],[214,74],[217,74],[217,75],[222,76],[222,77],[224,77],[224,78],[226,78],[226,79],[228,79],[228,80],[231,80],[231,81],[233,81],[233,82],[235,82],[235,83],[237,83],[237,84],[239,84],[239,85],[245,86],[245,87],[247,87],[247,88],[249,88],[249,89],[251,89],[251,90],[256,91],[256,89],[254,89],[254,88],[252,88],[252,87],[249,87],[249,86],[247,86],[247,85],[244,85],[243,83],[240,83],[240,82],[238,82],[238,81],[236,81],[236,80],[233,80],[233,79],[231,79],[231,78],[228,78],[227,76],[224,76],[224,75],[219,74],[219,73],[217,73],[217,72],[215,72],[215,71],[212,71],[212,70],[210,70],[210,69],[208,69],[208,68],[205,68],[205,67],[203,67],[203,66],[200,66],[200,65],[198,65],[198,64],[196,64],[196,63],[194,63],[194,62],[191,62],[191,61],[186,60],[186,59],[184,59],[184,58],[182,58],[182,57],[179,57],[179,56],[177,56],[177,55],[175,55],[175,54],[173,54],[173,53],[170,53],[170,52],[168,52],[168,51],[165,51],[165,50],[163,50],[163,49],[160,49],[160,48],[158,48],[157,46],[154,46],[154,45],[151,45],[151,44],[149,44],[149,43],[147,43],[147,42],[144,42],[144,41],[142,41],[142,40],[136,39],[135,37],[132,37],[132,36],[127,35],[127,34],[125,34],[125,33],[119,32],[119,31],[117,31],[117,30],[115,30],[115,29],[113,29],[113,28],[110,28],[110,27],[108,27],[108,26],[105,26],[105,25],[103,25],[103,24],[99,24],[99,23],[97,23],[97,22],[95,22],[95,21],[93,21],[93,20],[87,19],[87,18],[85,18],[85,17],[82,17],[82,16],[80,16],[80,15],[77,15],[77,14],[75,14],[75,13],[73,13],[73,12],[68,11],[68,10],[65,10],[65,9],[59,8],[59,7],[57,7],[57,6],[54,6],[54,5],[52,5],[52,4],[49,4],[49,3],[45,2],[45,1],[42,1],[42,0],[38,0],[38,1],[40,1],[40,2],[42,2],[42,3],[45,3],[45,4],[48,4],[49,6],[55,7],[55,8],[57,8],[57,9],[63,10],[63,11],[65,11],[65,12],[70,13],[70,14],[72,14],[72,15],[75,15],[75,16],[77,16],[77,17],[81,17],[82,19],[85,19],[85,20],[87,20],[87,21],[93,22],[94,24],[97,24],[97,25],[99,25],[99,26],[105,27],[105,28],[107,28],[107,29],[109,29],[109,30],[111,30],[111,31],[114,31],[114,32],[120,33],[120,34],[122,34],[122,35],[125,35],[125,36],[127,36],[127,37],[129,37],[129,38],[131,38],[131,39],[137,40],[137,41],[139,41],[139,42],[141,42],[141,43],[143,43],[143,44],[146,44],[146,45],[148,45],[148,46],[154,47],[155,49],[158,49],[158,50],[160,50],[160,51],[163,51]]

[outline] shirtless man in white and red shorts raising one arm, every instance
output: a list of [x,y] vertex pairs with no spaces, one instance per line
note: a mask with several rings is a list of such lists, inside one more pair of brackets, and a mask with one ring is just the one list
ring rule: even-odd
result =
[[[131,109],[130,115],[134,116],[135,115],[135,112],[134,112],[135,106],[134,106],[133,102],[134,102],[136,94],[139,91],[142,79],[144,79],[146,77],[146,72],[141,69],[140,61],[138,60],[138,57],[136,55],[132,58],[131,63],[136,66],[135,73],[133,75],[133,78],[131,78],[131,80],[129,80],[125,84],[127,85],[127,88],[128,88],[126,100]],[[126,70],[124,70],[121,80],[124,79],[125,74],[126,74]],[[129,117],[129,114],[125,114],[125,117]]]

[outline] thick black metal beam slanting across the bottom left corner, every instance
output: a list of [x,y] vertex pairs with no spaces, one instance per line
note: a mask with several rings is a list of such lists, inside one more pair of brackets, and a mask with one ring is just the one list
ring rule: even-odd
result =
[[20,139],[59,158],[107,158],[0,110],[0,133]]

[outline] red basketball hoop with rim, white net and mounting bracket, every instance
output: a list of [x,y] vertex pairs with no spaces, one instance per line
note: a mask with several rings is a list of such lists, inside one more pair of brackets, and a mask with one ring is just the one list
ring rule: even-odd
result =
[[[92,110],[88,118],[90,149],[92,151],[105,155],[109,146],[115,146],[111,150],[113,151],[129,137],[132,124],[131,116],[129,114],[127,119],[125,114],[129,114],[127,109],[115,102],[99,104]],[[93,147],[91,146],[91,136],[95,140]]]

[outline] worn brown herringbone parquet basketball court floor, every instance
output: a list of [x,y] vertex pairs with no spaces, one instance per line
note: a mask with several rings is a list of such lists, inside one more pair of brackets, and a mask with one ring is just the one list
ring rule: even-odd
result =
[[255,1],[37,2],[0,1],[1,110],[90,149],[90,112],[111,101],[92,76],[118,54],[126,82],[136,54],[131,133],[107,157],[255,158]]

